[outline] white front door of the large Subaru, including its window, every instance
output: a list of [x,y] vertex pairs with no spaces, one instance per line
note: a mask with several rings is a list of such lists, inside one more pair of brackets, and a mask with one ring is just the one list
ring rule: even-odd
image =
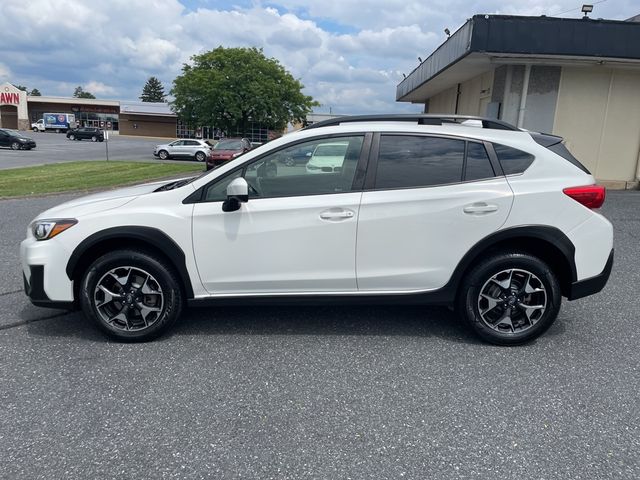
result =
[[[364,136],[340,137],[342,161],[310,172],[285,160],[295,147],[245,163],[212,182],[194,205],[193,249],[214,295],[356,291],[355,249],[362,192],[354,186]],[[311,140],[309,148],[335,139]],[[338,165],[340,164],[340,165]],[[240,210],[223,212],[226,186],[250,185]]]

